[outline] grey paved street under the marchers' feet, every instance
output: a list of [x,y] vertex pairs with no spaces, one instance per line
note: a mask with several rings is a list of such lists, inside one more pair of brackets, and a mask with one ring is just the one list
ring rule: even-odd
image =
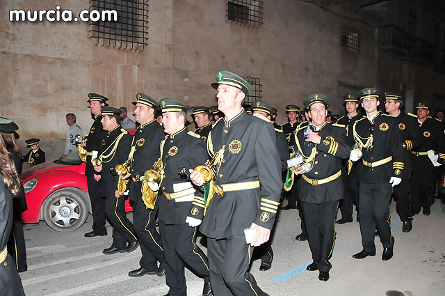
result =
[[[296,210],[287,210],[277,221],[272,269],[260,272],[257,260],[252,274],[270,296],[445,295],[445,213],[439,201],[432,206],[430,216],[414,217],[410,233],[402,233],[394,203],[391,208],[396,244],[394,258],[389,261],[380,258],[378,237],[377,256],[352,258],[362,250],[354,217],[353,223],[337,226],[331,277],[321,282],[318,272],[305,270],[312,261],[309,245],[294,239],[300,233],[300,220]],[[111,228],[106,237],[83,237],[91,224],[90,216],[80,229],[68,233],[53,231],[44,221],[24,226],[29,270],[20,276],[26,295],[157,296],[168,292],[165,277],[127,276],[129,270],[139,267],[140,249],[131,254],[103,255],[102,249],[111,245]],[[186,277],[188,295],[201,295],[202,279],[189,271]]]

